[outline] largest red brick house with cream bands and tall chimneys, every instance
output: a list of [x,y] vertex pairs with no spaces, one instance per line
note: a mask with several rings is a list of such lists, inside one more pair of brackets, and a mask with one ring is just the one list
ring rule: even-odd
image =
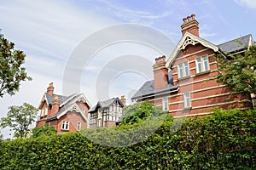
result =
[[216,55],[243,54],[244,47],[253,44],[252,35],[215,45],[200,37],[195,14],[184,18],[181,28],[183,37],[169,59],[155,59],[154,80],[145,82],[131,99],[148,99],[174,117],[204,116],[215,106],[251,107],[250,96],[231,92],[215,76],[220,74]]

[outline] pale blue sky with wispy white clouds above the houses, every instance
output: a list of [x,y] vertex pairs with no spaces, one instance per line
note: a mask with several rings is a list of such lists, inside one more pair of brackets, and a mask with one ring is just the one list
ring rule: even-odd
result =
[[[15,42],[15,48],[26,53],[26,71],[33,80],[22,82],[20,92],[15,96],[7,94],[0,99],[0,116],[6,116],[9,105],[27,102],[38,107],[49,82],[54,82],[55,94],[63,94],[62,80],[67,61],[79,44],[90,35],[109,26],[132,23],[160,31],[176,44],[181,38],[182,19],[190,14],[195,14],[200,23],[200,36],[209,42],[219,44],[249,33],[256,36],[254,0],[2,1],[1,33]],[[172,48],[170,47],[170,53]],[[104,79],[101,83],[97,79],[101,76],[102,68],[119,56],[129,54],[148,59],[147,65],[137,62],[137,67],[145,65],[148,74],[126,71],[111,77],[108,84],[105,84],[109,88],[108,95],[102,98],[101,93],[96,93],[96,86],[104,83]],[[90,63],[80,68],[83,72],[79,82],[80,89],[72,92],[84,93],[91,105],[95,105],[98,99],[122,94],[131,98],[143,82],[153,78],[150,64],[159,55],[161,54],[153,48],[137,42],[108,45],[96,51]],[[166,57],[168,58],[168,54]],[[118,65],[125,64],[119,62]],[[104,91],[104,87],[102,90]],[[106,94],[105,91],[104,93]]]

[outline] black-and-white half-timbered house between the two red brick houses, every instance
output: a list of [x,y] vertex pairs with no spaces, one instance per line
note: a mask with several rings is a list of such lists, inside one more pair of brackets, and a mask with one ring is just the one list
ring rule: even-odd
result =
[[99,101],[89,111],[90,128],[115,126],[122,118],[124,107],[125,96],[121,96],[121,99],[113,98]]

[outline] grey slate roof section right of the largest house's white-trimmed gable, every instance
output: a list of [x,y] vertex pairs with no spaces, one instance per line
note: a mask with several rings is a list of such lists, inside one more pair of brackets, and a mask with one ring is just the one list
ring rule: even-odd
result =
[[248,34],[247,36],[239,37],[229,42],[221,43],[217,46],[224,53],[232,53],[232,52],[240,51],[241,49],[244,49],[246,45],[249,44],[249,42],[251,41],[251,37],[252,35]]

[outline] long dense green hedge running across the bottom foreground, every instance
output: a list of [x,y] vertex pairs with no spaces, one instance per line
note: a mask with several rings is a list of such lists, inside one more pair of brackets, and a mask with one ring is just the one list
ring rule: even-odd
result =
[[[96,144],[84,135],[113,142],[115,131],[135,125],[15,139],[1,142],[0,169],[255,169],[255,117],[256,110],[216,110],[213,116],[186,120],[173,134],[169,118],[143,142],[123,147]],[[152,121],[137,129],[147,133],[157,126]],[[131,140],[130,131],[124,132],[114,141]],[[133,139],[141,138],[137,135],[145,133],[136,133]]]

